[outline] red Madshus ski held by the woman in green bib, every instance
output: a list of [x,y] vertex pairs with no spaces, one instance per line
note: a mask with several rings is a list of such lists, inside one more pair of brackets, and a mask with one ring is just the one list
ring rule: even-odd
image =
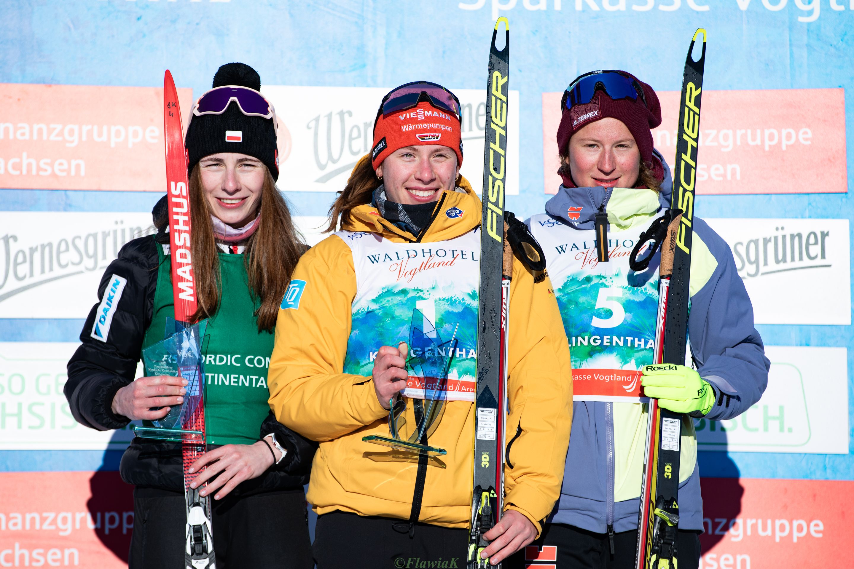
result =
[[[190,325],[196,313],[196,282],[190,256],[190,197],[187,181],[187,155],[184,150],[184,128],[178,107],[178,91],[172,73],[167,70],[163,78],[163,128],[166,138],[166,183],[169,205],[169,251],[172,257],[172,290],[175,300],[175,320],[178,327]],[[193,462],[208,450],[205,437],[204,393],[197,370],[195,377],[187,377],[185,401],[197,396],[197,404],[184,418],[185,431],[199,431],[201,438],[184,435],[181,452],[184,458],[184,496],[187,506],[187,524],[184,527],[186,569],[215,569],[210,496],[199,496],[199,488],[190,484],[201,471],[188,473]],[[195,392],[194,392],[195,391]]]

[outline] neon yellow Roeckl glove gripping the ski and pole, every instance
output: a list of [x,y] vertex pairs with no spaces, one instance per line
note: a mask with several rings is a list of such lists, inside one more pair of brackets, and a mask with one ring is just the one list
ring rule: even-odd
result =
[[646,397],[674,413],[708,413],[715,404],[715,390],[691,368],[676,363],[646,365],[640,370]]

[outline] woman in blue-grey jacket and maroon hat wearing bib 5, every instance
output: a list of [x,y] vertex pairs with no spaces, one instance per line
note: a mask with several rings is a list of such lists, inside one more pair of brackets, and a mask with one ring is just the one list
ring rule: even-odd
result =
[[[559,568],[634,567],[646,440],[640,370],[644,395],[687,415],[676,545],[679,569],[695,568],[703,505],[690,417],[721,421],[749,409],[765,389],[769,361],[727,243],[693,218],[693,366],[644,369],[652,363],[659,253],[638,272],[629,253],[670,205],[670,169],[652,148],[658,96],[629,73],[605,70],[570,84],[561,111],[563,185],[528,223],[546,252],[570,341],[575,402],[559,504],[537,543],[556,548],[543,554]],[[596,250],[597,213],[607,215],[606,261]]]

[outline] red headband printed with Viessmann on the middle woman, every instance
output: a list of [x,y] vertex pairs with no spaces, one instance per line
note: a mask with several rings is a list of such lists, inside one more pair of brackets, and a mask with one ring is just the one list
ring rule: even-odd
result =
[[441,144],[457,154],[457,165],[463,163],[463,142],[459,119],[422,101],[399,113],[380,115],[374,126],[371,165],[376,170],[386,157],[399,148]]

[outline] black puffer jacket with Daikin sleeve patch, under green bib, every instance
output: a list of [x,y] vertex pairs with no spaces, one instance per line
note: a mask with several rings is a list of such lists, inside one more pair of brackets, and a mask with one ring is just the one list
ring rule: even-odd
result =
[[[165,200],[161,200],[152,212],[155,227],[165,227],[164,208]],[[98,298],[102,299],[113,275],[127,280],[107,341],[91,336],[98,303],[92,307],[80,333],[83,345],[68,362],[65,396],[74,418],[86,427],[108,431],[130,422],[127,417],[115,415],[111,407],[115,393],[130,384],[136,375],[143,338],[154,311],[159,242],[168,243],[168,234],[162,229],[157,235],[134,239],[121,248],[98,287]],[[235,496],[295,490],[307,483],[317,444],[284,427],[272,413],[259,425],[258,436],[262,438],[269,433],[276,433],[276,440],[288,450],[287,455],[260,477],[238,485],[233,492]],[[183,491],[181,445],[134,438],[121,458],[120,473],[128,484]]]

